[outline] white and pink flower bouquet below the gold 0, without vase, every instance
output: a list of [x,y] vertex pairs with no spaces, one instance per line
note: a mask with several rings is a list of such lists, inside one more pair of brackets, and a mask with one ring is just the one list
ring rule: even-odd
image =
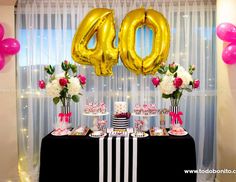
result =
[[195,71],[195,66],[189,66],[186,71],[182,66],[176,63],[169,65],[161,65],[158,70],[160,77],[152,78],[154,86],[160,85],[162,97],[165,99],[170,98],[172,105],[178,105],[183,91],[191,92],[200,85],[198,79],[193,79],[192,74]]

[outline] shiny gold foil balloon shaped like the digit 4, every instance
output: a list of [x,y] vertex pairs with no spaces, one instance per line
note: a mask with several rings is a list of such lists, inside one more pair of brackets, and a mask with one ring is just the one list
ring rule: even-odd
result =
[[[96,47],[88,49],[88,42],[96,32]],[[91,10],[75,33],[72,58],[80,64],[93,65],[98,76],[112,75],[112,66],[118,62],[118,49],[113,45],[115,36],[113,11]]]

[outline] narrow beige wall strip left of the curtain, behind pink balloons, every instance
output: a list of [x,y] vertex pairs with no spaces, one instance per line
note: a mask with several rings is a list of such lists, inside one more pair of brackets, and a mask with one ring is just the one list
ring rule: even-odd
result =
[[[0,23],[5,37],[14,37],[15,1],[0,1]],[[0,71],[0,181],[18,181],[17,121],[16,121],[16,64],[15,57],[6,59]]]

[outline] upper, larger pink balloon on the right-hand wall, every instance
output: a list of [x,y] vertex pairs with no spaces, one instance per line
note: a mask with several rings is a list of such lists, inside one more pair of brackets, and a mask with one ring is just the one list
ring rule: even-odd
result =
[[221,23],[216,28],[217,36],[225,42],[236,42],[236,27],[231,23]]

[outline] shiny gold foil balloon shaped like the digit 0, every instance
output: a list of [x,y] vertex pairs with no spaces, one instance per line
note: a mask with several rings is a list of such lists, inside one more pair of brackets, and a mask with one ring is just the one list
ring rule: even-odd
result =
[[[135,51],[135,33],[138,27],[147,25],[153,30],[152,52],[144,59]],[[137,74],[155,74],[168,57],[170,28],[164,16],[155,10],[144,8],[129,12],[122,21],[119,33],[119,51],[125,67]]]

